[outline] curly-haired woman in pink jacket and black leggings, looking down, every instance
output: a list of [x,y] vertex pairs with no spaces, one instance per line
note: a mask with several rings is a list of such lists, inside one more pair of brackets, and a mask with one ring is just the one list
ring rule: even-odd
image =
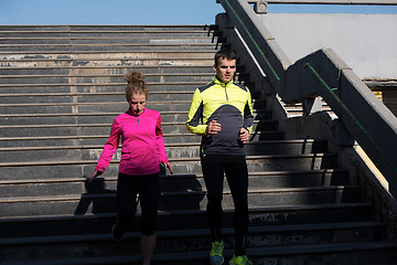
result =
[[117,180],[117,221],[111,230],[115,241],[122,240],[127,224],[135,219],[137,194],[141,204],[141,252],[143,265],[151,262],[155,246],[155,218],[159,209],[159,174],[163,163],[173,173],[165,155],[160,114],[146,108],[149,88],[139,72],[126,76],[129,109],[118,115],[89,181],[104,173],[121,138],[121,160]]

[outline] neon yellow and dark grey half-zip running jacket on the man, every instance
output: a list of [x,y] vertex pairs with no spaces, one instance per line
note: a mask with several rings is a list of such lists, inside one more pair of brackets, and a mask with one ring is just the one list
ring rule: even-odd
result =
[[[221,124],[216,135],[205,135],[211,120]],[[240,128],[253,131],[253,103],[249,89],[233,81],[213,82],[195,89],[189,110],[186,127],[192,134],[202,135],[201,155],[245,155],[239,141]]]

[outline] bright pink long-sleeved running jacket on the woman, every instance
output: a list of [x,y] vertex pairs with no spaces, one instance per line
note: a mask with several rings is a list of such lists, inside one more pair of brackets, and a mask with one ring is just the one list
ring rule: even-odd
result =
[[160,171],[159,162],[168,162],[161,130],[160,113],[144,108],[139,116],[131,110],[118,115],[95,170],[105,171],[117,151],[121,137],[119,171],[126,174],[151,174]]

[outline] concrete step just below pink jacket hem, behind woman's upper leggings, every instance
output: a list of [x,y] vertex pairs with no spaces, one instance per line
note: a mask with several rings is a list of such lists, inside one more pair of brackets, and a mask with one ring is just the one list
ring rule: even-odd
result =
[[[87,176],[89,177],[89,176]],[[6,178],[4,178],[6,179]],[[345,170],[302,170],[269,171],[249,173],[249,187],[258,189],[313,188],[350,184]],[[0,198],[40,197],[40,195],[81,195],[111,193],[116,190],[117,176],[98,178],[89,183],[87,178],[43,178],[17,179],[0,181]],[[161,190],[164,192],[203,191],[205,187],[202,174],[161,176]],[[228,187],[224,181],[224,187]]]

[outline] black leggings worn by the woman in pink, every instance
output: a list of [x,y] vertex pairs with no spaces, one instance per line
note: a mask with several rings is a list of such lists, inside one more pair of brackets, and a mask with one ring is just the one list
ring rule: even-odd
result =
[[152,235],[155,232],[160,200],[159,173],[130,176],[119,172],[116,199],[119,222],[128,223],[135,220],[138,194],[141,205],[141,233]]

